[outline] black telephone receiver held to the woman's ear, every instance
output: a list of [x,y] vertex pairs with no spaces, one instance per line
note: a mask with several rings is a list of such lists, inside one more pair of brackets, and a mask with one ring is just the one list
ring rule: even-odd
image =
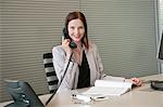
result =
[[72,38],[68,36],[68,31],[67,31],[66,28],[63,28],[63,36],[64,36],[64,39],[70,39],[71,40],[71,42],[70,42],[70,48],[71,49],[76,49],[77,48],[77,44],[74,41],[72,41]]

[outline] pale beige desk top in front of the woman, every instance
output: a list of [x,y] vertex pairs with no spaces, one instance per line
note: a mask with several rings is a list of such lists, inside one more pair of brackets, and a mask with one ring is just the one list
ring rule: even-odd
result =
[[[140,78],[141,80],[162,80],[162,75],[153,75]],[[87,89],[77,90],[79,92]],[[57,93],[47,107],[163,107],[163,91],[154,91],[150,83],[135,88],[133,91],[105,101],[93,102],[89,105],[74,104],[71,95],[73,91]],[[41,95],[39,98],[45,104],[51,94]],[[4,105],[4,104],[1,104]]]

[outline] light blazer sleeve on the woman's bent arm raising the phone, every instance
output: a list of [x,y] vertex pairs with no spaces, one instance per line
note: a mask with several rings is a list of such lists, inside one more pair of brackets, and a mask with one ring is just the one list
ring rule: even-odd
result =
[[[52,55],[53,55],[53,65],[57,72],[57,77],[59,79],[60,88],[59,90],[71,90],[73,89],[73,84],[75,81],[75,75],[77,70],[77,64],[70,62],[70,65],[67,67],[66,73],[63,77],[65,72],[65,68],[68,64],[68,57],[66,57],[66,53],[62,45],[54,46],[52,49]],[[62,83],[60,83],[62,81]]]

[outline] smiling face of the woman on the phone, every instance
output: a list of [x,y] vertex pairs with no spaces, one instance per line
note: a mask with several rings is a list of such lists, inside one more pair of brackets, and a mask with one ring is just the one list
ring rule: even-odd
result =
[[85,26],[79,18],[72,19],[68,25],[68,35],[73,41],[80,42],[85,35]]

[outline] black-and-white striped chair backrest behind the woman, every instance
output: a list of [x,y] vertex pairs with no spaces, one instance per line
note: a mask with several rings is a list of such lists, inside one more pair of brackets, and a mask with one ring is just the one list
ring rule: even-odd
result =
[[52,63],[52,53],[43,54],[43,65],[45,65],[47,81],[49,85],[49,91],[50,93],[57,92],[59,80]]

